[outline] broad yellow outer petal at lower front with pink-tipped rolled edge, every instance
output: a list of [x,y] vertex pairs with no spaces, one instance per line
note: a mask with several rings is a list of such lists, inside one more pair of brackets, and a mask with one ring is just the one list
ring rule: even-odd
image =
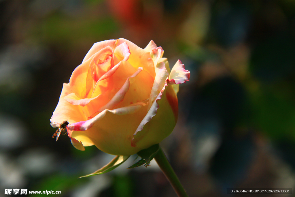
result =
[[140,148],[130,146],[132,135],[146,114],[144,103],[104,110],[88,121],[69,124],[69,136],[81,141],[85,136],[101,151],[115,155],[132,155]]

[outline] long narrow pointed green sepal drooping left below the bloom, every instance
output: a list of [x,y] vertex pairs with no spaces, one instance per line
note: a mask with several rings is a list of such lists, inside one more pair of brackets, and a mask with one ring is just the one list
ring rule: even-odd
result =
[[118,167],[119,165],[121,165],[122,163],[124,163],[129,157],[130,156],[117,155],[116,157],[114,157],[114,159],[112,159],[111,162],[109,162],[107,165],[105,165],[101,169],[96,170],[95,172],[93,172],[93,173],[91,173],[89,175],[81,176],[79,178],[89,177],[89,176],[94,176],[94,175],[100,175],[100,174],[104,174],[106,172],[112,171],[116,167]]

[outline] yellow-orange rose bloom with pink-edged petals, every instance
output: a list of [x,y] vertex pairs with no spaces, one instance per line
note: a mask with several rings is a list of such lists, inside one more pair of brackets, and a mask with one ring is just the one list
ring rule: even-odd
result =
[[51,122],[68,120],[76,149],[95,145],[131,155],[167,137],[178,116],[177,92],[190,73],[177,61],[170,72],[163,49],[123,38],[95,43],[63,84]]

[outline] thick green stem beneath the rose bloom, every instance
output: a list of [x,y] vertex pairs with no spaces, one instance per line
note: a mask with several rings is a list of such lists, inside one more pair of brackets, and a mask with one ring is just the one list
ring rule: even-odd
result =
[[155,160],[177,195],[179,197],[188,197],[161,147],[155,156]]

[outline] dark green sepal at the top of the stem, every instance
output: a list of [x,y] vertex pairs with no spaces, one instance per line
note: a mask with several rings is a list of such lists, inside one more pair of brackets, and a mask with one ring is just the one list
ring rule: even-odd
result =
[[137,153],[142,159],[140,159],[138,162],[133,164],[132,166],[128,168],[134,168],[134,167],[139,167],[143,164],[145,164],[145,167],[150,165],[150,161],[156,156],[158,151],[160,150],[159,144],[155,144],[153,146],[150,146],[147,149],[143,149],[140,152]]

